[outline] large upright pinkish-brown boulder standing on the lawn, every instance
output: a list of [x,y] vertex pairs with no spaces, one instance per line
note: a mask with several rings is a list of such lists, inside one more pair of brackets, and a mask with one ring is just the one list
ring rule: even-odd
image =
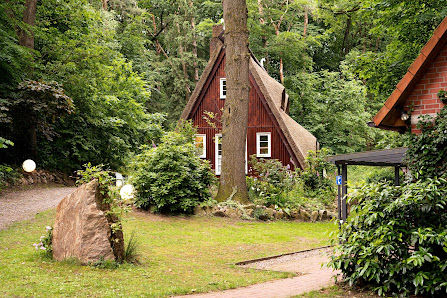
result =
[[96,180],[81,185],[57,206],[53,257],[77,258],[83,264],[114,259],[111,229]]

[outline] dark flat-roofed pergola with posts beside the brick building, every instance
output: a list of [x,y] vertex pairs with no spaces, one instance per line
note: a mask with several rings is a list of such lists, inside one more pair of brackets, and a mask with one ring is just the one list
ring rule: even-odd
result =
[[340,224],[346,222],[348,216],[346,195],[348,193],[348,165],[394,167],[394,184],[399,185],[399,169],[404,166],[403,159],[406,147],[396,149],[374,150],[328,157],[328,161],[337,166],[341,175],[341,185],[338,185],[338,219]]

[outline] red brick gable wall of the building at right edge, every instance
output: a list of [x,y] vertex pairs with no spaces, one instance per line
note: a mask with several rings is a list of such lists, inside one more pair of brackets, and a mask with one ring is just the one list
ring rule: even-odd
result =
[[416,128],[417,118],[420,115],[436,114],[444,106],[438,99],[439,90],[447,90],[447,45],[428,66],[425,74],[417,83],[410,96],[405,102],[406,111],[412,105],[411,131],[420,133]]

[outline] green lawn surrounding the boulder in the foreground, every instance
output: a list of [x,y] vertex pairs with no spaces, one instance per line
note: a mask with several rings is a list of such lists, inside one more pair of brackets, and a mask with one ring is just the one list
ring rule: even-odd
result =
[[217,217],[163,217],[133,212],[140,265],[118,269],[45,259],[32,246],[54,210],[0,231],[0,296],[163,297],[246,286],[292,276],[242,269],[235,262],[328,244],[333,223],[250,222]]

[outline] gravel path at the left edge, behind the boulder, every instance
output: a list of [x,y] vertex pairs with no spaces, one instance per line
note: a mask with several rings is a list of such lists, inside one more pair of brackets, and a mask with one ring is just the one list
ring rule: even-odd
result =
[[76,187],[33,186],[26,190],[7,190],[0,193],[0,230],[16,221],[31,219],[36,213],[55,208]]

